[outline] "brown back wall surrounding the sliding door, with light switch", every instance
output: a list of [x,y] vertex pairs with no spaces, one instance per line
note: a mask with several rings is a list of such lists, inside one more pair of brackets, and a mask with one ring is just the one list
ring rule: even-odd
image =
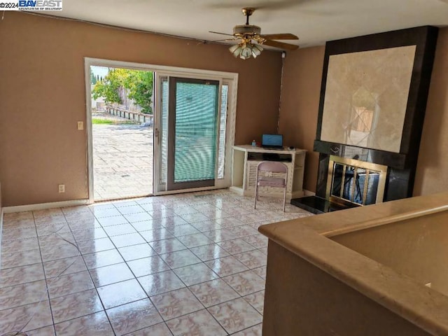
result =
[[[276,132],[281,54],[8,12],[0,29],[3,205],[87,197],[84,57],[239,73],[236,144]],[[66,193],[57,193],[64,183]]]

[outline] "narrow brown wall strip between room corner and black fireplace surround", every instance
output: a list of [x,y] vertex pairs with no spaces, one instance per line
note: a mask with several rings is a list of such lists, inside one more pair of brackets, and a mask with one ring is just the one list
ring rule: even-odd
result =
[[316,139],[324,46],[288,52],[283,68],[279,132],[286,146],[306,149],[304,189],[316,190],[318,153]]

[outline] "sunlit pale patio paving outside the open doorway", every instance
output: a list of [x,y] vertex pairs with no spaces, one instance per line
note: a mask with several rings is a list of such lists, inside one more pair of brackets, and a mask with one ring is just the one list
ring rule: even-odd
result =
[[[94,113],[94,118],[123,118]],[[153,127],[92,125],[94,200],[118,200],[153,192]]]

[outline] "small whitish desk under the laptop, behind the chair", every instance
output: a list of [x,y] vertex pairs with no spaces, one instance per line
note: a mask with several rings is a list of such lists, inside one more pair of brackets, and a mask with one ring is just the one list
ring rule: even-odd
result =
[[[253,196],[257,165],[262,161],[281,161],[288,167],[288,186],[286,198],[303,196],[304,149],[265,149],[251,145],[233,146],[232,155],[232,186],[230,190],[244,195]],[[263,187],[259,189],[261,196],[283,197],[283,190]]]

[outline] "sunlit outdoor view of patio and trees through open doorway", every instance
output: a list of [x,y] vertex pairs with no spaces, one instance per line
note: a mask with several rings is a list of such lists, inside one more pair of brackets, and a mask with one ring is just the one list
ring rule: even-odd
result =
[[90,66],[94,201],[153,193],[153,72]]

